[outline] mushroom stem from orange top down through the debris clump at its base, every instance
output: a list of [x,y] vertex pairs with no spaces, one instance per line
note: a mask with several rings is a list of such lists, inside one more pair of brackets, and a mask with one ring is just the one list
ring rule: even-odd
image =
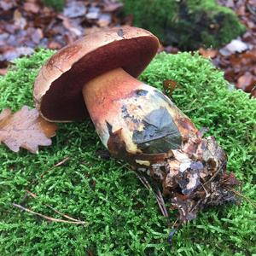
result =
[[202,207],[235,201],[224,151],[160,90],[118,68],[90,80],[83,95],[110,154],[160,181],[183,222]]

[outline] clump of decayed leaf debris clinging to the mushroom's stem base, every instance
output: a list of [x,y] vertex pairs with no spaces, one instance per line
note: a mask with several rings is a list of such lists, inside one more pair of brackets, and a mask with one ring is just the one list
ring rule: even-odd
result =
[[[160,182],[163,195],[171,202],[171,209],[178,211],[183,224],[196,218],[197,212],[206,207],[239,202],[234,188],[240,182],[234,173],[226,172],[226,163],[226,154],[215,138],[203,138],[198,132],[183,148],[172,150],[171,157],[150,166],[147,173]],[[145,177],[139,178],[148,189]],[[156,194],[155,197],[166,217],[163,199]]]

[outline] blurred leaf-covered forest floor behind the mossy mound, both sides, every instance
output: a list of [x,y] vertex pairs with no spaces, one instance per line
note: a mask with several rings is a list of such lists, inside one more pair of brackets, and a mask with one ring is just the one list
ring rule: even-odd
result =
[[[220,49],[198,49],[212,58],[213,64],[224,71],[230,88],[244,90],[256,96],[256,1],[219,0],[234,9],[247,27],[241,37]],[[108,26],[132,25],[132,16],[121,18],[122,4],[108,0],[68,0],[61,12],[42,5],[38,0],[0,3],[0,74],[7,72],[9,61],[20,55],[31,55],[34,49],[60,49],[77,38]],[[160,50],[177,53],[172,45]]]

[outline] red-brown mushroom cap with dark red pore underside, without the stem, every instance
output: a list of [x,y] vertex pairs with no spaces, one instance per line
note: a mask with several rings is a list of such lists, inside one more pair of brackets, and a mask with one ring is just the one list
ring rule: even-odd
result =
[[89,116],[82,96],[86,82],[117,67],[137,77],[152,60],[158,38],[137,27],[115,27],[60,49],[38,73],[33,97],[45,119],[72,121]]

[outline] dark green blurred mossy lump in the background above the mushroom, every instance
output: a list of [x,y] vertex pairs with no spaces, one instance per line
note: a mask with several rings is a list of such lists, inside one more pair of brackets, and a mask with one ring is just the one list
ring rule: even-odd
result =
[[245,31],[235,13],[215,0],[124,0],[134,25],[180,49],[219,47]]

